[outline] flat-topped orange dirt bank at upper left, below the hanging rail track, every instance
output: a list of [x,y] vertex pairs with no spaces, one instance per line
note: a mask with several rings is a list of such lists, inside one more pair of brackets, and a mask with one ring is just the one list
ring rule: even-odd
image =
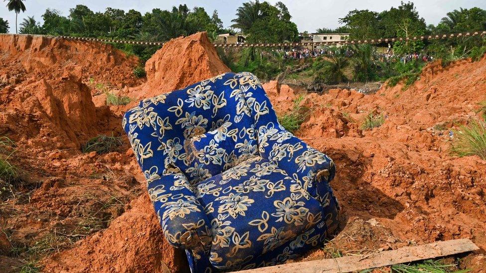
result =
[[[83,81],[128,86],[140,83],[132,73],[138,59],[101,42],[1,34],[0,62],[3,67],[20,63],[25,73],[42,77],[62,76],[66,66],[76,65],[82,69]],[[19,78],[17,72],[0,70],[0,79]]]

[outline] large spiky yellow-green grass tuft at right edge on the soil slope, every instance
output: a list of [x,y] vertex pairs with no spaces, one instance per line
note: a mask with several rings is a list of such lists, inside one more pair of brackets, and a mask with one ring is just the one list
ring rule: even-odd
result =
[[460,125],[453,130],[454,140],[451,151],[459,157],[477,155],[486,160],[486,125],[471,120],[468,125]]

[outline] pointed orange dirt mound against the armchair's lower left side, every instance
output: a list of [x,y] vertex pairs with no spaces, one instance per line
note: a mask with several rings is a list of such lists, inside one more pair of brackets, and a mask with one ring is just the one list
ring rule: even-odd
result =
[[181,272],[186,256],[174,252],[146,194],[129,205],[104,231],[83,240],[75,248],[55,254],[46,272]]

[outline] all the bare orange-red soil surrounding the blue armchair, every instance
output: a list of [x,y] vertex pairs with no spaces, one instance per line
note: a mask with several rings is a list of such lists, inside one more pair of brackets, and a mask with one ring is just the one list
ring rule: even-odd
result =
[[[0,35],[0,63],[0,133],[15,140],[11,162],[24,179],[0,205],[0,272],[29,258],[15,257],[12,246],[44,257],[45,272],[187,271],[184,253],[163,237],[128,144],[106,155],[81,154],[79,145],[99,133],[122,134],[129,107],[103,106],[106,98],[92,98],[89,78],[142,98],[229,71],[206,35],[164,45],[147,62],[147,82],[133,88],[116,83],[139,83],[132,76],[136,59],[99,43]],[[279,114],[299,95],[276,82],[264,88]],[[435,126],[475,116],[484,90],[486,59],[431,64],[405,91],[398,85],[371,95],[305,96],[301,104],[311,113],[296,134],[338,167],[332,186],[344,217],[333,247],[349,254],[471,238],[482,250],[464,267],[486,266],[486,162],[451,156],[448,130]],[[385,122],[363,131],[371,111]],[[43,245],[49,247],[40,251]],[[326,256],[316,250],[304,260]]]

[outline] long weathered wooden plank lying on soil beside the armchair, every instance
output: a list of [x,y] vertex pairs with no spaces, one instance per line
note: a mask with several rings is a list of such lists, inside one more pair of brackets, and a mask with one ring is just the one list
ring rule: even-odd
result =
[[436,242],[397,250],[378,251],[364,256],[346,256],[244,270],[246,273],[331,273],[353,272],[479,250],[469,239]]

